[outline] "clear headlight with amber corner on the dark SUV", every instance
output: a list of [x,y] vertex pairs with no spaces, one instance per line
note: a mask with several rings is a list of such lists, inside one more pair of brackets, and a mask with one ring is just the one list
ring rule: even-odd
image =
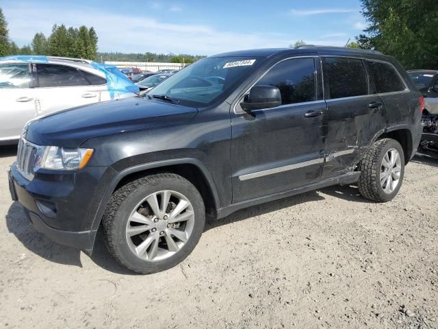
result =
[[39,168],[51,170],[82,169],[90,160],[93,149],[68,149],[57,146],[40,147],[36,154],[34,171]]

